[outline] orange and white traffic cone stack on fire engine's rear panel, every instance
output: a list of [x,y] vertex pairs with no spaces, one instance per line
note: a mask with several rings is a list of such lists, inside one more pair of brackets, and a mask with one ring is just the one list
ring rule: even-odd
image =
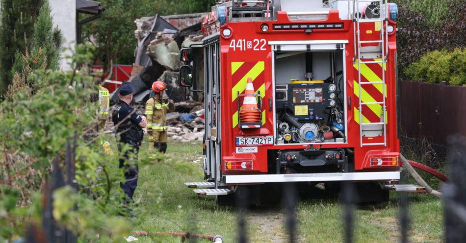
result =
[[260,122],[262,117],[257,106],[253,80],[250,77],[248,78],[244,94],[243,109],[239,111],[239,122]]

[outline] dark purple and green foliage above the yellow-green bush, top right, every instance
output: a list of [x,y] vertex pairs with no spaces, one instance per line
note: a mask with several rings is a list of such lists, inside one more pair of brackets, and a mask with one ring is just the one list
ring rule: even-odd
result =
[[[466,1],[396,0],[400,70],[432,50],[466,48]],[[402,72],[403,74],[404,72]]]

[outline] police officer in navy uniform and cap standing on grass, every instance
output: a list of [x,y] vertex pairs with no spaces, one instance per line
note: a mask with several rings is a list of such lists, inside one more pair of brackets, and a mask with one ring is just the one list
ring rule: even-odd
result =
[[133,98],[133,90],[130,84],[126,83],[120,88],[118,94],[119,100],[112,110],[112,121],[116,128],[116,136],[118,143],[118,151],[121,153],[123,145],[128,145],[129,149],[125,151],[120,159],[120,168],[125,167],[125,183],[120,183],[126,198],[126,203],[129,203],[137,186],[138,166],[137,155],[139,146],[144,136],[146,127],[146,118],[135,113],[134,109],[129,106]]

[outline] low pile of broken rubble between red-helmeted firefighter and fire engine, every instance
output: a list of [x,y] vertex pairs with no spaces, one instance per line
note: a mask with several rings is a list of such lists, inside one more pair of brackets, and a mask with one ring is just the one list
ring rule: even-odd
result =
[[[167,113],[167,135],[181,142],[204,140],[204,105],[202,102],[175,103],[177,112]],[[186,112],[189,111],[189,112]]]

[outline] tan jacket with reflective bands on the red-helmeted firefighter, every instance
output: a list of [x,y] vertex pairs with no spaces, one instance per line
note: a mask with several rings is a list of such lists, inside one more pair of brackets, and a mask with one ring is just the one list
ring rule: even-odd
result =
[[165,131],[167,125],[165,118],[169,103],[156,99],[155,97],[149,98],[146,102],[146,118],[148,131]]

